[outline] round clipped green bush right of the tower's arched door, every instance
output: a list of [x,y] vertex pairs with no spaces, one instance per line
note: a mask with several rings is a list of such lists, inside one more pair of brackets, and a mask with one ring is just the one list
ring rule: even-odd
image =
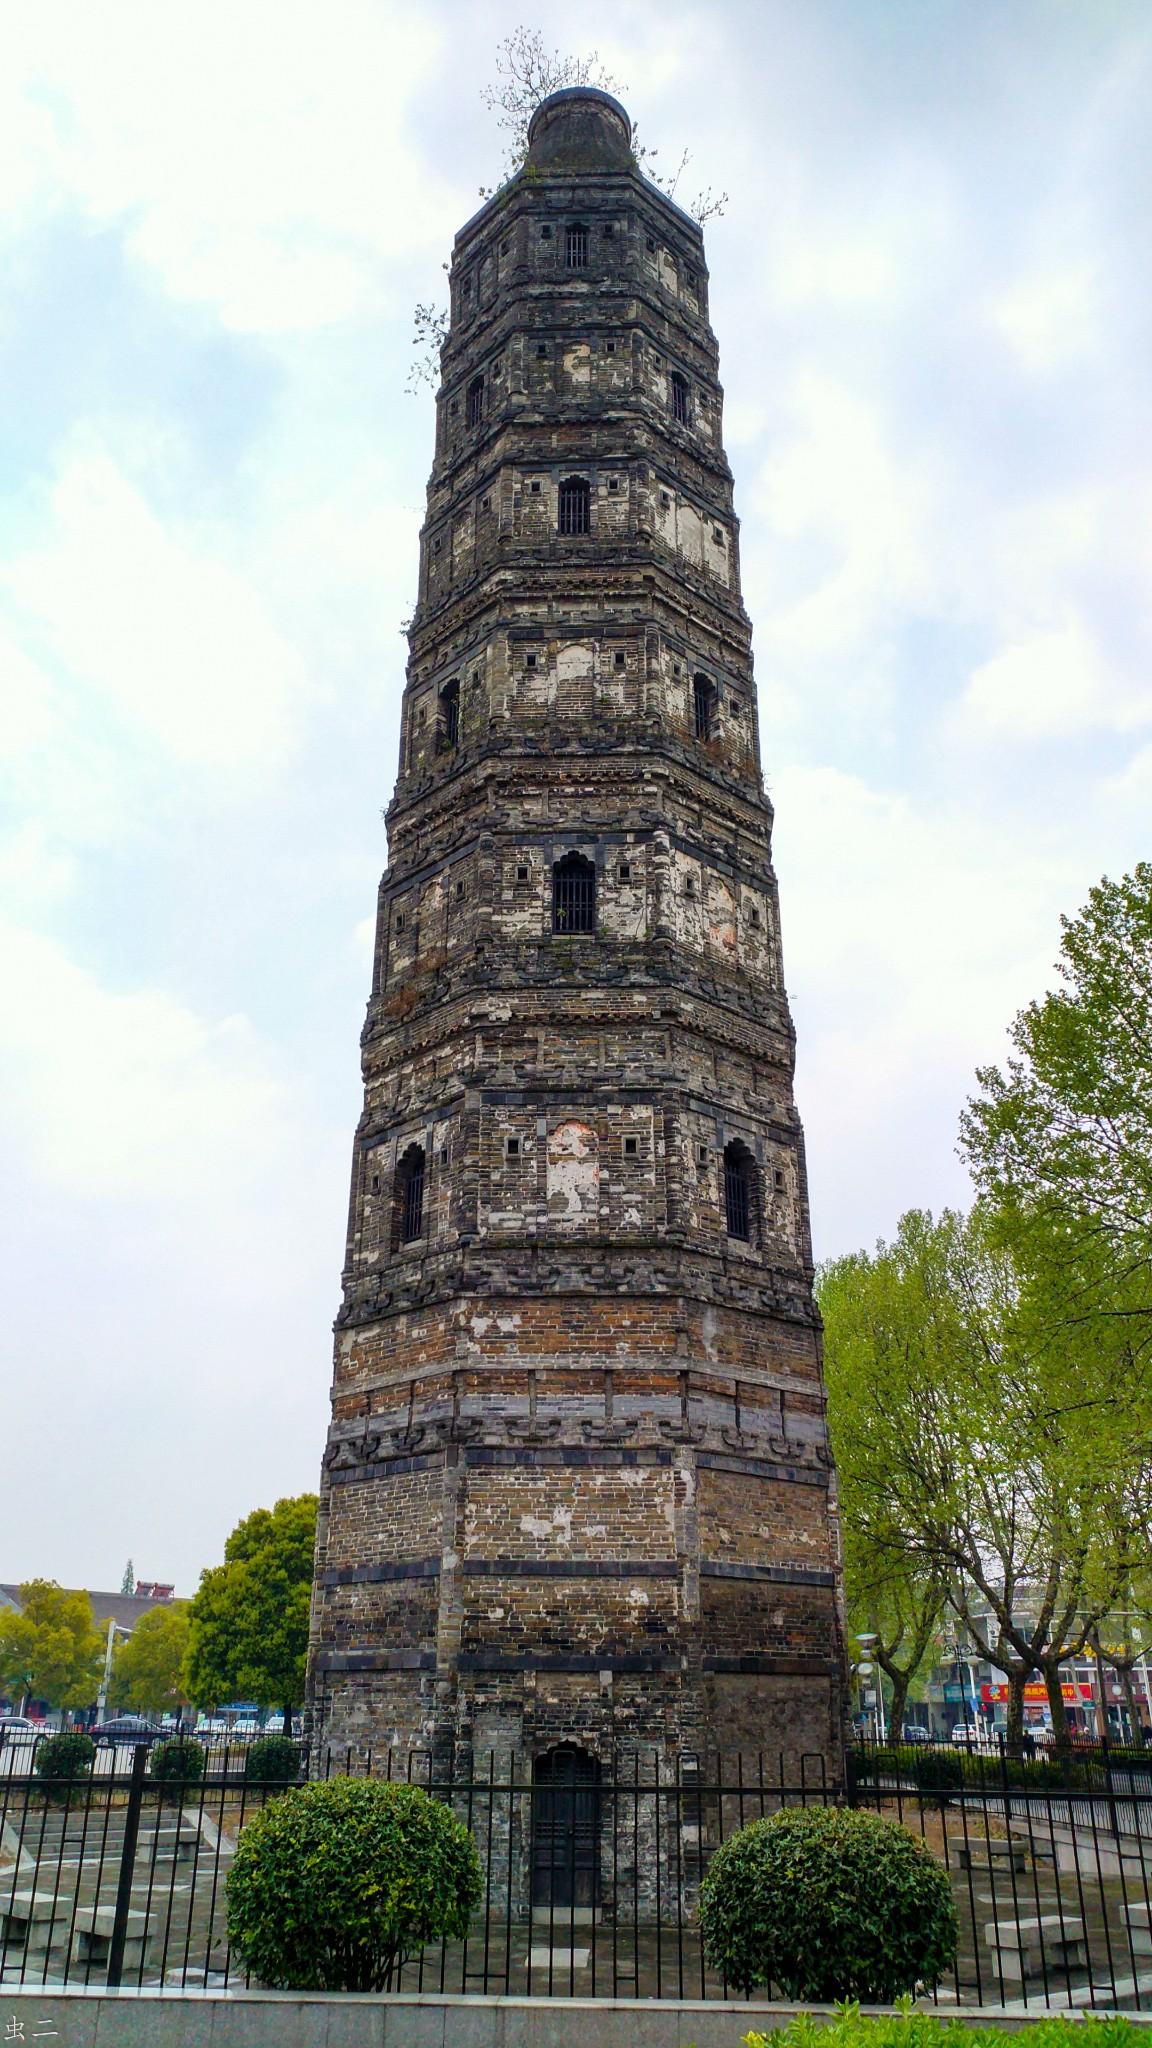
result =
[[943,1868],[898,1821],[808,1806],[754,1821],[701,1884],[707,1960],[736,1991],[888,2005],[955,1962]]

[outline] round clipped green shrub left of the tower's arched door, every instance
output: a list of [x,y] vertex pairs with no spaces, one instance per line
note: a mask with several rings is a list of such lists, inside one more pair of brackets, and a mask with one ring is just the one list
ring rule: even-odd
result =
[[277,1991],[383,1991],[426,1942],[467,1933],[476,1843],[418,1786],[291,1786],[242,1829],[228,1939]]

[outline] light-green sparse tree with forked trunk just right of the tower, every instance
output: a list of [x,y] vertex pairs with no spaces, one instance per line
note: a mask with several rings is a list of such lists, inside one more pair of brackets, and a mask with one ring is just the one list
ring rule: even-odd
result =
[[[947,1585],[963,1634],[1009,1679],[1047,1686],[1117,1604],[1146,1528],[1146,1458],[1121,1401],[1084,1401],[1082,1360],[1050,1341],[1000,1219],[912,1210],[873,1257],[820,1276],[828,1419],[847,1548]],[[1097,1380],[1115,1360],[1097,1362]]]

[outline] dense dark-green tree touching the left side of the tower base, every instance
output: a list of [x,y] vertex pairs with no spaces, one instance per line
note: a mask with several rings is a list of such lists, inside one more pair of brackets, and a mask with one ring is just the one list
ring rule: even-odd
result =
[[303,1700],[316,1507],[314,1493],[258,1507],[232,1530],[223,1565],[201,1573],[184,1659],[197,1706],[238,1698],[279,1706],[291,1735]]

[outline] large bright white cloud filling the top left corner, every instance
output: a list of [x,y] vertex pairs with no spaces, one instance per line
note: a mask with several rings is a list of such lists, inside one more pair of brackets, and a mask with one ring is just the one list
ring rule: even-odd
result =
[[123,223],[178,299],[234,328],[344,319],[381,254],[420,246],[443,197],[406,139],[441,43],[373,0],[84,0],[8,10],[8,205]]

